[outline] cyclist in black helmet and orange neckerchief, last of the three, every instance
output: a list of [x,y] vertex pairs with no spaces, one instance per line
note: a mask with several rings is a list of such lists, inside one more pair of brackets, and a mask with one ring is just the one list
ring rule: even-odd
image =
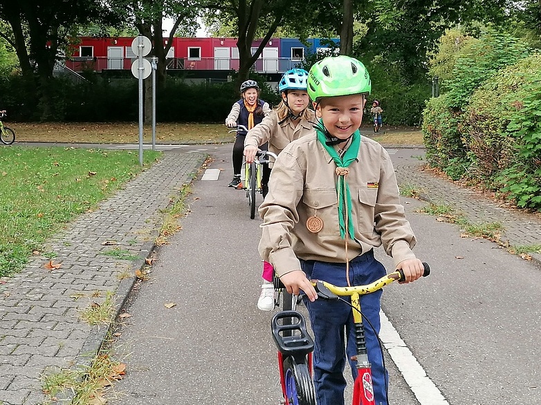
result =
[[[231,111],[226,118],[226,126],[233,128],[239,124],[245,126],[246,129],[252,129],[259,124],[259,122],[262,122],[263,117],[270,113],[270,106],[268,103],[259,99],[259,85],[255,80],[246,80],[246,82],[241,84],[240,91],[241,99],[233,104]],[[245,137],[246,131],[237,131],[232,154],[233,180],[231,180],[228,187],[242,188],[241,169]],[[267,180],[268,171],[267,165],[264,165],[264,178]]]

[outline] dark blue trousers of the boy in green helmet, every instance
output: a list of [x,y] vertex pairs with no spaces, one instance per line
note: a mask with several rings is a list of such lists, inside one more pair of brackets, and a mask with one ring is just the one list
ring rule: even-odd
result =
[[[326,263],[320,261],[301,261],[302,270],[309,279],[327,281],[345,287],[345,263]],[[349,281],[351,285],[365,285],[385,275],[385,267],[374,258],[372,251],[349,262]],[[381,290],[361,295],[360,305],[363,315],[376,329],[380,330]],[[349,297],[344,297],[349,299]],[[342,301],[317,299],[310,302],[304,299],[308,308],[314,333],[314,385],[318,405],[344,405],[346,380],[344,368],[346,359],[351,366],[351,375],[357,377],[357,368],[351,357],[356,355],[355,329],[351,307]],[[372,381],[376,405],[387,405],[385,380],[378,338],[363,317],[369,361],[372,363]],[[347,344],[345,344],[345,341]],[[346,357],[347,352],[347,357]]]

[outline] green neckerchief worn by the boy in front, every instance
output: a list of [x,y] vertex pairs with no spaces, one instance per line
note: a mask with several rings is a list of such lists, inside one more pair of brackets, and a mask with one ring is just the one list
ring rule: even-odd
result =
[[[315,132],[318,134],[318,140],[323,145],[325,150],[329,152],[329,155],[331,155],[331,158],[333,158],[337,167],[348,167],[351,162],[356,160],[360,147],[359,130],[354,132],[351,139],[351,145],[349,145],[349,148],[347,148],[346,153],[344,153],[344,156],[342,156],[342,158],[338,156],[338,153],[336,153],[336,151],[331,145],[325,143],[327,138],[325,137],[325,134],[321,131],[320,128],[315,127]],[[351,239],[354,239],[355,229],[353,225],[353,219],[351,218],[351,194],[349,194],[349,186],[347,185],[347,181],[345,181],[344,176],[338,176],[338,182],[336,183],[336,194],[338,194],[338,221],[340,222],[340,236],[342,237],[342,239],[345,239],[346,237],[344,208],[347,207],[347,230],[349,237]]]

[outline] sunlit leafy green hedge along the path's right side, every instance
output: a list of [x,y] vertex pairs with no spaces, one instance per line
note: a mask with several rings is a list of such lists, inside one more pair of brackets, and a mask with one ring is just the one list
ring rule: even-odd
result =
[[432,167],[541,211],[541,55],[490,32],[423,111]]

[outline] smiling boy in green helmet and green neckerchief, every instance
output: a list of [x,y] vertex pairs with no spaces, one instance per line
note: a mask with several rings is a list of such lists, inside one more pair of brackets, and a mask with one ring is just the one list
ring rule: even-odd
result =
[[[269,193],[259,207],[263,218],[259,253],[289,292],[306,294],[314,331],[314,382],[318,405],[344,404],[343,370],[356,355],[351,308],[317,300],[309,281],[364,285],[385,275],[373,248],[383,245],[405,282],[419,279],[423,265],[412,247],[415,236],[400,203],[394,169],[380,144],[360,135],[368,72],[341,55],[317,62],[308,93],[320,118],[312,135],[280,153]],[[363,314],[379,332],[381,291],[361,296]],[[385,370],[378,339],[365,328],[376,405],[387,405]],[[345,344],[345,341],[347,342]],[[353,361],[351,373],[357,370]]]

